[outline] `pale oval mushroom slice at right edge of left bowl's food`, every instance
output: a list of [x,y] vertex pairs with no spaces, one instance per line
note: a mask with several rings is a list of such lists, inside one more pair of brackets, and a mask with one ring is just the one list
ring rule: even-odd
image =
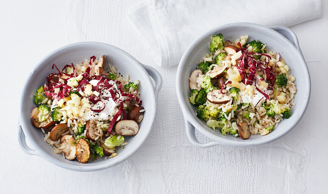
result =
[[139,131],[137,122],[133,120],[122,120],[116,123],[115,131],[118,135],[136,135]]

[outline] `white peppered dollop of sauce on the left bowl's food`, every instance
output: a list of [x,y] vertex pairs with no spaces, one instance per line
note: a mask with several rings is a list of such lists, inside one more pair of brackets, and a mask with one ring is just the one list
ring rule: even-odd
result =
[[[99,80],[90,80],[89,83],[92,84],[92,86],[96,87]],[[113,80],[109,81],[109,84],[113,85],[117,88],[115,82]],[[120,105],[120,103],[115,103],[111,93],[108,89],[102,90],[103,94],[100,95],[100,99],[105,103],[105,108],[100,112],[94,112],[92,110],[89,110],[88,112],[85,112],[83,115],[83,118],[85,121],[93,119],[96,121],[105,121],[109,120],[109,118],[113,117],[115,114],[115,109],[117,106]],[[124,97],[123,97],[124,98]],[[104,103],[97,102],[96,104],[91,104],[92,109],[101,109],[104,107]]]

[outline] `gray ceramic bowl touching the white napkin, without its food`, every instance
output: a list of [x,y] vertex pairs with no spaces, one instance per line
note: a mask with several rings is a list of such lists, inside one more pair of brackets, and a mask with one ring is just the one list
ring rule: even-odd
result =
[[[211,36],[221,33],[226,40],[236,40],[241,35],[249,35],[249,40],[256,39],[267,44],[266,48],[279,52],[290,68],[291,74],[296,77],[297,93],[295,104],[291,108],[292,115],[289,119],[279,123],[271,133],[260,136],[251,135],[247,140],[235,138],[232,135],[224,136],[219,130],[214,131],[206,126],[204,120],[195,115],[195,107],[189,103],[189,76],[196,69],[204,54],[209,53],[208,43]],[[231,36],[231,38],[229,37]],[[227,146],[256,146],[272,142],[293,129],[302,118],[310,99],[311,81],[301,49],[299,48],[296,34],[286,27],[265,27],[253,23],[233,23],[212,29],[197,38],[183,54],[176,73],[176,92],[185,118],[187,136],[191,143],[197,147],[206,148],[215,145]],[[200,143],[195,136],[195,128],[213,139],[213,142]]]

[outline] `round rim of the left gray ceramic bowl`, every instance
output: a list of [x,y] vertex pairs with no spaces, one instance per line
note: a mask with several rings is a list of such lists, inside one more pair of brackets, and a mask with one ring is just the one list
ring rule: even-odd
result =
[[[146,75],[149,75],[149,73],[146,71],[146,69],[143,67],[143,65],[138,61],[136,60],[132,55],[130,55],[128,52],[126,52],[125,50],[121,49],[121,48],[118,48],[118,47],[115,47],[113,45],[110,45],[110,44],[107,44],[107,43],[101,43],[101,42],[92,42],[92,41],[86,41],[86,42],[77,42],[77,43],[72,43],[72,44],[69,44],[69,45],[66,45],[66,46],[63,46],[63,47],[60,47],[54,51],[52,51],[51,53],[49,53],[47,56],[45,56],[43,59],[41,59],[37,65],[33,68],[33,70],[31,71],[30,73],[30,76],[26,79],[25,81],[25,84],[24,84],[24,87],[22,89],[22,92],[21,92],[21,99],[20,99],[20,118],[19,118],[19,123],[18,125],[20,125],[23,129],[23,133],[25,134],[28,142],[32,145],[32,147],[37,151],[37,156],[40,156],[42,157],[43,159],[45,159],[46,161],[50,162],[51,164],[54,164],[58,167],[61,167],[61,168],[64,168],[64,169],[68,169],[68,170],[72,170],[72,171],[80,171],[80,172],[90,172],[90,171],[98,171],[98,170],[103,170],[103,169],[107,169],[107,168],[110,168],[110,167],[113,167],[115,165],[118,165],[122,162],[124,162],[125,160],[127,160],[137,149],[139,149],[139,147],[145,142],[145,140],[147,139],[147,137],[149,136],[152,128],[153,128],[153,125],[154,125],[154,121],[156,119],[156,113],[157,113],[157,100],[156,100],[156,97],[155,97],[155,92],[154,92],[154,85],[152,83],[152,80],[150,78],[150,76],[147,76],[147,82],[149,82],[151,84],[151,86],[153,86],[152,88],[147,88],[147,89],[151,89],[153,93],[153,95],[150,96],[150,98],[153,100],[154,102],[154,106],[153,107],[153,113],[152,115],[150,115],[150,118],[149,121],[147,122],[150,122],[150,127],[148,128],[145,128],[147,129],[146,131],[146,134],[145,136],[143,136],[142,138],[140,138],[140,141],[134,146],[134,147],[131,147],[130,149],[128,149],[127,151],[125,151],[124,153],[124,156],[122,157],[118,157],[114,160],[108,160],[108,162],[106,163],[103,163],[103,164],[94,164],[94,165],[85,165],[85,166],[81,166],[81,165],[72,165],[72,164],[67,164],[67,163],[63,163],[62,161],[59,161],[58,159],[56,159],[55,157],[51,156],[50,154],[48,154],[45,150],[43,150],[43,148],[39,145],[37,145],[30,132],[28,131],[28,126],[26,123],[23,122],[23,118],[24,116],[26,116],[23,112],[23,99],[24,99],[24,94],[26,93],[26,90],[27,90],[27,86],[29,84],[29,81],[30,81],[30,78],[31,76],[36,72],[36,70],[38,68],[40,68],[40,66],[42,66],[42,64],[45,63],[45,61],[47,59],[49,59],[50,57],[52,57],[54,54],[58,53],[58,52],[61,52],[65,49],[68,49],[68,48],[72,48],[72,47],[82,47],[82,46],[105,46],[105,47],[108,47],[110,49],[116,49],[118,50],[119,52],[122,52],[124,53],[125,55],[127,55],[127,57],[131,58],[133,61],[134,61],[134,65],[136,66],[139,66],[141,71],[143,71]],[[83,59],[82,59],[83,60]],[[43,141],[43,140],[42,140]],[[76,162],[76,161],[75,161]],[[80,164],[78,162],[76,162],[76,164]]]

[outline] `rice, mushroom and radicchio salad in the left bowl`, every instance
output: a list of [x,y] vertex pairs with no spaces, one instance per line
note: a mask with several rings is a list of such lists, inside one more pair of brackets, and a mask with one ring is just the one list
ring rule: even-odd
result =
[[59,70],[55,64],[36,89],[31,122],[45,133],[44,141],[68,160],[86,163],[107,156],[139,131],[145,109],[141,107],[139,80],[123,78],[106,56],[95,56]]

